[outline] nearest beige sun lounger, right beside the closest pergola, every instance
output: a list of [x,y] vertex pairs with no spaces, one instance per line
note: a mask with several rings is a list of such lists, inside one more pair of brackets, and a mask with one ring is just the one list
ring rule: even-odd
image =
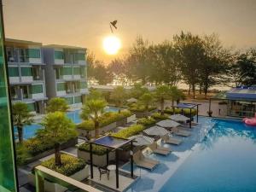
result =
[[157,166],[160,162],[157,160],[152,160],[146,158],[142,151],[137,151],[137,153],[133,154],[133,160],[137,166],[153,170],[155,166]]

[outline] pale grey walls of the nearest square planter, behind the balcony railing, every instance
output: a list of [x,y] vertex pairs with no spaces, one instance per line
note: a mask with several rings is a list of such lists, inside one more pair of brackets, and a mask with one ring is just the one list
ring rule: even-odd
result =
[[[85,178],[89,177],[89,166],[84,166],[84,169],[80,170],[79,172],[74,173],[71,178],[82,181]],[[27,176],[28,183],[32,184],[32,186],[35,186],[36,179],[35,175],[31,172]],[[58,183],[52,183],[49,181],[44,180],[44,189],[46,192],[64,192],[67,191],[67,188],[61,186]]]

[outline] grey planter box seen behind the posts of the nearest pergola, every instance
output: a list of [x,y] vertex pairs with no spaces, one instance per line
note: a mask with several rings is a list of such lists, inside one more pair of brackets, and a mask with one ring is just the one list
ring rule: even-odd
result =
[[[90,153],[86,151],[78,150],[78,157],[85,160],[86,162],[90,161]],[[108,160],[114,160],[114,152],[108,154]],[[92,154],[93,165],[95,166],[106,166],[107,165],[107,154],[97,155]]]

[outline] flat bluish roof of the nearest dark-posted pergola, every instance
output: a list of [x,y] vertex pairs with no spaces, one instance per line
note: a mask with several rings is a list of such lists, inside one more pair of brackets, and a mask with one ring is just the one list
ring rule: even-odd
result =
[[93,143],[97,145],[101,145],[105,148],[120,148],[130,142],[131,140],[129,139],[123,139],[123,138],[112,137],[112,136],[103,136],[96,139]]

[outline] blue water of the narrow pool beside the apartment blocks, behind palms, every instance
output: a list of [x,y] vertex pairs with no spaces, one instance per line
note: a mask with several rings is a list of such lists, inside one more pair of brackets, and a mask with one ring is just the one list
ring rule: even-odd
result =
[[[119,108],[113,108],[113,107],[107,107],[105,109],[106,112],[118,112]],[[79,124],[82,122],[82,119],[80,119],[80,110],[67,112],[67,117],[69,119],[72,119],[75,124]],[[32,124],[32,125],[26,125],[23,128],[23,137],[25,139],[32,138],[35,136],[38,129],[41,129],[41,125],[38,124]],[[15,137],[17,138],[17,129],[15,129]]]

